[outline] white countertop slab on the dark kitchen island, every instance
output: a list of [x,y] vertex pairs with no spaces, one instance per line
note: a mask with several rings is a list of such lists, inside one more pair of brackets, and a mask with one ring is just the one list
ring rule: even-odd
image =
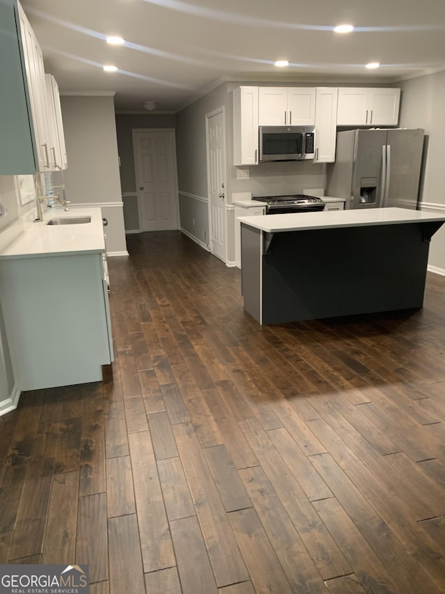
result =
[[237,220],[250,227],[266,231],[266,233],[280,233],[307,229],[445,221],[445,213],[435,214],[434,212],[408,210],[407,208],[373,208],[369,210],[322,210],[293,214],[259,214],[254,217],[238,217]]

